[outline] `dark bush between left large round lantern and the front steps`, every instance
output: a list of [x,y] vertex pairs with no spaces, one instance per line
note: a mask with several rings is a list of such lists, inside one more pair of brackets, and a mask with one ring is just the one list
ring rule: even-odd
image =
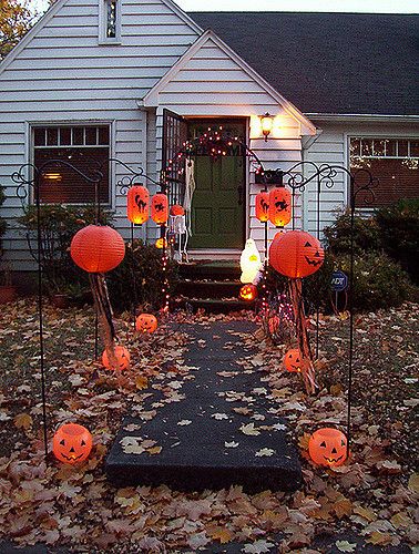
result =
[[[166,275],[170,294],[174,293],[177,283],[176,268],[175,263],[168,263]],[[142,240],[134,240],[133,247],[126,245],[124,260],[109,274],[106,281],[115,310],[131,309],[135,300],[142,309],[157,310],[164,305],[162,250],[154,245],[144,245]]]

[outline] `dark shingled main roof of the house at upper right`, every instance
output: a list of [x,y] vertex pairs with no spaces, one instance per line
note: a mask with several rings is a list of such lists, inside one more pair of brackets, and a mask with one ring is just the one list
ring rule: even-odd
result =
[[418,16],[190,14],[304,113],[419,113]]

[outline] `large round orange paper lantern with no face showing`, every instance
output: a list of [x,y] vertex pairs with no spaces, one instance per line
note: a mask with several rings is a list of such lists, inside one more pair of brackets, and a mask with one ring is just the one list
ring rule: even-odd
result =
[[104,274],[121,264],[125,244],[117,230],[108,225],[88,225],[71,240],[74,264],[90,274]]

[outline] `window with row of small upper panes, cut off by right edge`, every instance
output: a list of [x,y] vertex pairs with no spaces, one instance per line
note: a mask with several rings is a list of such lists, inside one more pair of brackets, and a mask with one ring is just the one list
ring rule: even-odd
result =
[[350,171],[362,167],[379,179],[372,204],[360,193],[357,206],[389,206],[400,198],[419,198],[419,140],[350,138]]

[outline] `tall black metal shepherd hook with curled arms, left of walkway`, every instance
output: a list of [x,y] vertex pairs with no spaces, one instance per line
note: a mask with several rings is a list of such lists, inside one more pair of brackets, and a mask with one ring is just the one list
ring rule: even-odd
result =
[[43,284],[42,284],[42,267],[43,267],[43,248],[42,248],[42,229],[41,229],[41,194],[40,181],[47,167],[59,166],[67,167],[80,175],[86,183],[92,183],[98,191],[102,174],[99,171],[93,171],[92,175],[78,170],[74,165],[63,160],[49,160],[37,167],[34,164],[23,164],[19,171],[11,175],[13,183],[17,183],[16,194],[23,203],[32,191],[33,201],[37,207],[37,261],[38,261],[38,317],[39,317],[39,352],[40,352],[40,369],[41,369],[41,394],[42,394],[42,421],[43,421],[43,442],[45,449],[45,461],[48,460],[48,420],[47,420],[47,387],[45,387],[45,360],[44,360],[44,340],[43,340]]

